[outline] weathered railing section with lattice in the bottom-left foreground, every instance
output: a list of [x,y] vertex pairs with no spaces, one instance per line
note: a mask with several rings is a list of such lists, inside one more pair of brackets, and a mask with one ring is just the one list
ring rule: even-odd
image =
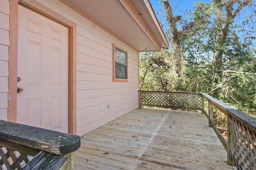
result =
[[80,137],[0,120],[0,170],[72,170]]

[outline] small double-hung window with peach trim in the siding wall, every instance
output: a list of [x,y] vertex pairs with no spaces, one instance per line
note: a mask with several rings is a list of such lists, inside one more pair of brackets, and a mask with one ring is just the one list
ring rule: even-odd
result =
[[127,52],[113,45],[113,81],[128,82]]

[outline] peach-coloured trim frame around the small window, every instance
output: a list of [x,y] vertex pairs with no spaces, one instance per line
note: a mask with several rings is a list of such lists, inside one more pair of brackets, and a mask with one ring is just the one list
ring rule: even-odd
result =
[[[127,54],[127,65],[126,65],[126,71],[127,71],[127,78],[123,79],[123,78],[116,78],[116,61],[115,61],[115,48],[118,48],[122,51],[124,51]],[[115,45],[114,43],[112,43],[112,81],[113,82],[128,82],[128,51],[126,51],[125,49],[123,49],[122,47],[119,47],[117,45]]]

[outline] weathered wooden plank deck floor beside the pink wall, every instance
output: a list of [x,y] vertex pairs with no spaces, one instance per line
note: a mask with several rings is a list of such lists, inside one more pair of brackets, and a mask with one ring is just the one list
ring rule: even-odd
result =
[[231,170],[204,114],[136,109],[86,135],[74,170]]

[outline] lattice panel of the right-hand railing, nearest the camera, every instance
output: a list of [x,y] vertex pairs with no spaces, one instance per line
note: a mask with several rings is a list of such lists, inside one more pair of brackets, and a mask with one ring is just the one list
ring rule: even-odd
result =
[[230,156],[241,170],[256,169],[256,133],[230,115]]

